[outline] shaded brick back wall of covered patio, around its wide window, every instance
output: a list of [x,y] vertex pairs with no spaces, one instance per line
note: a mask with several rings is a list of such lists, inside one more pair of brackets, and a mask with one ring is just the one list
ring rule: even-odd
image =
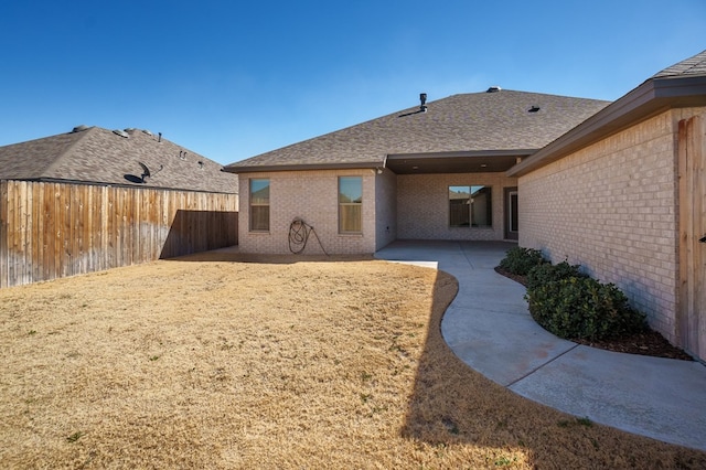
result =
[[[449,186],[492,188],[492,227],[449,227]],[[503,173],[403,174],[397,177],[397,237],[400,239],[494,241],[504,236],[504,188],[516,186]]]

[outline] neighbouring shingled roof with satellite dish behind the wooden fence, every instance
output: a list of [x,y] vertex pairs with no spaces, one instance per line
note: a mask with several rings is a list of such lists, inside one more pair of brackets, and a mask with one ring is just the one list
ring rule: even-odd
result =
[[[145,164],[151,175],[142,178]],[[79,126],[0,147],[0,179],[237,193],[233,174],[207,158],[139,129]]]

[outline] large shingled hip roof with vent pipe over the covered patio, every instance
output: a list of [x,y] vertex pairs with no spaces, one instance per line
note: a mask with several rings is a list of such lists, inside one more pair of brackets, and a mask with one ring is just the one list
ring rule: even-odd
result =
[[[225,167],[234,173],[323,168],[395,172],[504,171],[608,105],[608,102],[490,88],[453,95]],[[489,159],[489,157],[491,157]],[[502,159],[502,168],[495,168]],[[490,162],[490,164],[489,164]],[[416,169],[415,169],[416,170]],[[472,171],[483,171],[479,168]]]

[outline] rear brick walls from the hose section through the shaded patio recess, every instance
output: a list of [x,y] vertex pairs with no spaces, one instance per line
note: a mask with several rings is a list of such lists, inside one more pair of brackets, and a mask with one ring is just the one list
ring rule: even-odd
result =
[[[338,228],[338,177],[363,177],[363,234]],[[270,231],[249,231],[249,179],[270,180]],[[492,188],[492,227],[449,227],[449,185]],[[301,217],[313,225],[331,254],[367,254],[396,238],[503,239],[503,189],[516,179],[502,173],[396,175],[389,170],[290,171],[242,174],[238,243],[243,253],[286,254],[289,225]],[[321,254],[310,238],[306,254]]]

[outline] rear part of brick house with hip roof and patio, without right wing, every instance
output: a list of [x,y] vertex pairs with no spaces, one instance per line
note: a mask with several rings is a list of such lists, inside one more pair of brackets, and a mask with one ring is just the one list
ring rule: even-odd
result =
[[[493,87],[229,164],[239,175],[239,249],[289,253],[296,217],[336,254],[374,253],[397,238],[516,238],[506,207],[516,211],[517,179],[505,172],[606,105]],[[250,196],[264,188],[267,199]]]

